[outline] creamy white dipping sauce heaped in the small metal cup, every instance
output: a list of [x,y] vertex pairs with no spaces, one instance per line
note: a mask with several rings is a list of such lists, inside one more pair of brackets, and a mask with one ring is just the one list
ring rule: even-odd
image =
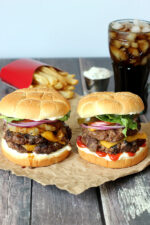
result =
[[101,80],[112,76],[112,72],[102,67],[91,67],[88,71],[84,71],[84,77],[91,80]]

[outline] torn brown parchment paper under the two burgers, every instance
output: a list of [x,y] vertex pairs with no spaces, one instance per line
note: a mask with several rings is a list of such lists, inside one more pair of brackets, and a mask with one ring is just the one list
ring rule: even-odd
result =
[[[107,181],[116,180],[129,174],[137,173],[150,165],[150,152],[148,157],[141,163],[125,169],[109,169],[90,164],[81,159],[77,153],[76,137],[80,134],[77,123],[76,105],[80,96],[71,100],[72,113],[68,124],[72,128],[73,138],[71,140],[73,151],[63,162],[42,168],[22,168],[9,162],[0,151],[0,169],[10,170],[17,176],[29,177],[42,185],[56,185],[72,194],[80,194],[90,187],[99,186]],[[142,124],[150,140],[150,123]],[[2,126],[0,126],[2,133]],[[149,145],[150,146],[150,145]]]

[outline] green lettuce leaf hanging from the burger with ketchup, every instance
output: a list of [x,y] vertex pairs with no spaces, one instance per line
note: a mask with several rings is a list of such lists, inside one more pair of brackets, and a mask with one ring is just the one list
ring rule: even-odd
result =
[[96,116],[97,119],[102,121],[107,121],[111,123],[119,123],[125,128],[122,130],[122,133],[127,136],[127,130],[137,130],[137,122],[133,120],[133,115],[113,115],[113,114],[105,114]]

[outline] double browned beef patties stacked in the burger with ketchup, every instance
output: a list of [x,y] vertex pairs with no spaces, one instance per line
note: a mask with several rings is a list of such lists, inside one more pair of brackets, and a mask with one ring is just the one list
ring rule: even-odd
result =
[[[136,118],[138,124],[138,130],[127,131],[127,136],[133,136],[138,133],[141,128],[141,124]],[[123,129],[111,129],[111,130],[94,130],[83,128],[82,129],[82,138],[81,141],[91,150],[91,151],[102,151],[110,154],[117,154],[120,152],[136,152],[138,148],[145,143],[145,139],[137,139],[133,142],[121,141],[125,138],[122,133]],[[108,142],[118,142],[111,148],[106,148],[100,144],[100,141],[108,141]]]

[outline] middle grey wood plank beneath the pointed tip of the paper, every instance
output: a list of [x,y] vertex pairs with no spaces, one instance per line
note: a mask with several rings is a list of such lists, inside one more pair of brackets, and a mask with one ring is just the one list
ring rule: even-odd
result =
[[[80,80],[78,59],[41,59],[52,66],[75,73]],[[76,88],[82,93],[81,82]],[[55,186],[43,187],[33,182],[31,224],[36,225],[102,224],[96,188],[74,196]]]

